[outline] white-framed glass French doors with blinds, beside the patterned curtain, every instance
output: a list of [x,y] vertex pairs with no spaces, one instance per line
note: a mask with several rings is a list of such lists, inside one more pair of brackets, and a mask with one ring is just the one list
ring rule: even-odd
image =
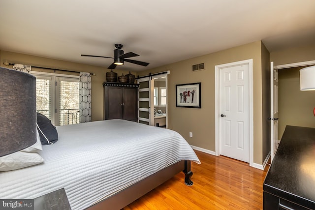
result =
[[55,125],[80,122],[79,77],[32,73],[36,77],[36,111]]

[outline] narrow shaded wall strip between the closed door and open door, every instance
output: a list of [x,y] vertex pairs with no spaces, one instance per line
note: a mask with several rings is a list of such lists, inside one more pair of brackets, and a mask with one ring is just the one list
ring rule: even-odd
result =
[[262,160],[270,152],[270,58],[265,45],[261,43],[261,75],[262,75]]

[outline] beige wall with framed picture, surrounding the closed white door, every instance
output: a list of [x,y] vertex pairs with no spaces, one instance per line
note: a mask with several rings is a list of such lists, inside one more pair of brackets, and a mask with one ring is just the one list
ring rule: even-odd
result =
[[[190,145],[215,151],[215,65],[253,59],[253,161],[262,164],[261,53],[261,42],[256,41],[217,53],[160,66],[138,74],[142,76],[149,72],[170,70],[167,79],[168,128],[179,132]],[[202,62],[205,63],[205,70],[192,72],[191,66]],[[201,82],[201,109],[176,107],[176,85],[196,82]],[[193,137],[189,137],[189,132],[193,133]]]

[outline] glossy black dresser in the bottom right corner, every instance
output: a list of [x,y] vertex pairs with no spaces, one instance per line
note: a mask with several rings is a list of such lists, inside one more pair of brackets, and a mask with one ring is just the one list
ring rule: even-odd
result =
[[315,128],[285,127],[263,190],[264,210],[315,210]]

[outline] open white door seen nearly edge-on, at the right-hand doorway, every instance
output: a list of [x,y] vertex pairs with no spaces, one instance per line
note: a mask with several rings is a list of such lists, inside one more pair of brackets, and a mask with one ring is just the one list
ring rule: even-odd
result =
[[271,160],[273,160],[280,144],[278,136],[278,69],[274,62],[270,63],[270,139]]

